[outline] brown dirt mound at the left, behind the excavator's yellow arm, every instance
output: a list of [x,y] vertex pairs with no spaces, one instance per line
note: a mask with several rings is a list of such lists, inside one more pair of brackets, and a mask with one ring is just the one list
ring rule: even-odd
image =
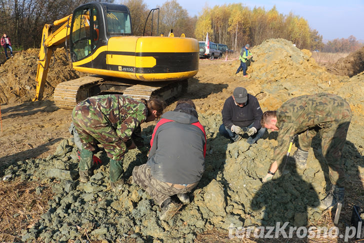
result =
[[[39,49],[28,49],[16,53],[1,65],[0,104],[27,102],[35,97],[38,54]],[[54,57],[51,58],[43,99],[52,100],[54,88],[58,83],[79,78],[80,75],[73,70],[64,48],[56,49]]]

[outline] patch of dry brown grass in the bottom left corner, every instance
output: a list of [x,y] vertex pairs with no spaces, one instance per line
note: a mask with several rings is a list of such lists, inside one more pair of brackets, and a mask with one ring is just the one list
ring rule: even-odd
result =
[[[35,193],[37,186],[43,188],[39,195]],[[38,182],[19,180],[0,181],[0,188],[0,242],[19,241],[21,229],[32,227],[48,210],[51,189]]]

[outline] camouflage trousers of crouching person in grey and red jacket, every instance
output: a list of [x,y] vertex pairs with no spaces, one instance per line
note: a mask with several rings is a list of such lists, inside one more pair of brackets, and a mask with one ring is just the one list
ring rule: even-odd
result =
[[142,187],[159,206],[170,196],[186,193],[197,185],[197,183],[195,183],[190,187],[181,189],[175,188],[173,187],[174,184],[169,185],[163,181],[154,179],[151,176],[150,167],[147,164],[134,167],[132,170],[132,181]]

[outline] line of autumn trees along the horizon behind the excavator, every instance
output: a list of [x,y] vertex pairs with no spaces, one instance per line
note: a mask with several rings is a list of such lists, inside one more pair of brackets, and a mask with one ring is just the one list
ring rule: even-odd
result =
[[[39,48],[45,24],[71,14],[73,9],[87,2],[91,1],[0,0],[1,35],[6,33],[13,47]],[[113,0],[102,2],[112,3]],[[120,4],[129,8],[132,31],[136,36],[161,33],[167,36],[172,30],[174,36],[184,33],[186,37],[204,41],[208,33],[210,41],[226,44],[233,50],[240,50],[245,44],[259,45],[271,38],[289,40],[299,49],[324,52],[352,52],[362,47],[353,36],[324,44],[322,36],[312,30],[304,18],[292,13],[279,14],[275,6],[266,11],[261,7],[251,10],[241,3],[225,4],[205,7],[198,16],[190,17],[177,0],[171,0],[153,6],[159,11],[154,11],[153,18],[149,16],[145,25],[149,9],[144,0],[123,0]]]

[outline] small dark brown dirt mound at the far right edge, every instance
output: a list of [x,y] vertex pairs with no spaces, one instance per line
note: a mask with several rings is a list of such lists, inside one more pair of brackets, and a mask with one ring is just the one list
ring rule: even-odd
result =
[[330,68],[330,71],[337,75],[345,75],[352,77],[364,71],[364,47],[356,52],[350,53],[345,58],[340,58]]

